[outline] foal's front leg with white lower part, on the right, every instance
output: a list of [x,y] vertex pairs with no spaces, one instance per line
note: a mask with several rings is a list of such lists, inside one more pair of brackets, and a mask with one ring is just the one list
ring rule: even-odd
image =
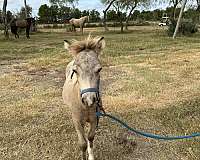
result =
[[94,153],[93,153],[93,140],[95,136],[97,118],[96,116],[92,118],[92,121],[89,123],[89,131],[88,131],[88,160],[94,160]]

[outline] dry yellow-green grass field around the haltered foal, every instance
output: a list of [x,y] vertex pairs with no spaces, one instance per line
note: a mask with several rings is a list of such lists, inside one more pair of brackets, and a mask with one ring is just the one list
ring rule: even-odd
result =
[[[153,27],[131,27],[105,36],[101,57],[103,104],[132,127],[162,135],[200,132],[200,34],[167,37]],[[85,33],[84,36],[87,36]],[[0,35],[0,159],[80,158],[76,132],[61,98],[72,57],[64,39],[82,36],[45,32],[26,40]],[[198,160],[200,138],[158,141],[128,134],[101,119],[97,160]]]

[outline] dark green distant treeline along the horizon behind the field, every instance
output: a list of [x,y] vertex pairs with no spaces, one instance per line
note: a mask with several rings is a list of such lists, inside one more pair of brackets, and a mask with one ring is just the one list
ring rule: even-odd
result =
[[[153,11],[139,11],[135,10],[131,17],[131,21],[141,20],[141,21],[159,21],[163,15],[173,17],[173,7],[168,7],[165,10],[156,9]],[[176,9],[176,17],[178,17],[180,8]],[[32,8],[28,6],[28,14],[31,15]],[[119,13],[118,13],[119,14]],[[109,10],[107,12],[107,21],[116,22],[118,21],[118,14],[115,10]],[[126,12],[120,13],[124,20],[126,18]],[[53,23],[65,23],[71,18],[80,18],[82,16],[90,16],[90,22],[101,22],[101,14],[97,10],[79,10],[78,8],[70,7],[59,7],[57,5],[48,6],[47,4],[41,5],[38,12],[38,23],[41,24],[53,24]],[[7,11],[8,22],[12,19],[13,14]],[[20,12],[17,13],[18,18],[24,18],[24,7],[21,8]],[[0,17],[2,17],[2,11],[0,10]],[[190,8],[184,12],[183,15],[186,19],[191,19],[199,21],[199,12],[196,9]],[[0,19],[2,23],[2,19]]]

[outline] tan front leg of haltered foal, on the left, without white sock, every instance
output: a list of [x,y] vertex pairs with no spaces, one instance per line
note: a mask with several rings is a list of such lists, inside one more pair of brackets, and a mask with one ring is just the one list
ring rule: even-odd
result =
[[82,152],[82,160],[86,160],[87,141],[85,138],[84,124],[78,120],[74,120],[74,126],[78,134],[78,145]]

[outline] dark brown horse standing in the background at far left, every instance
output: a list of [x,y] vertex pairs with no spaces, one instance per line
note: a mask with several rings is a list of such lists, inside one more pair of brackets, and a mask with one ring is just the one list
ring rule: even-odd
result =
[[31,28],[31,24],[35,23],[34,18],[26,18],[24,20],[14,19],[11,24],[11,32],[15,35],[15,38],[19,38],[19,34],[17,33],[18,28],[26,28],[26,37],[30,38],[29,32]]

